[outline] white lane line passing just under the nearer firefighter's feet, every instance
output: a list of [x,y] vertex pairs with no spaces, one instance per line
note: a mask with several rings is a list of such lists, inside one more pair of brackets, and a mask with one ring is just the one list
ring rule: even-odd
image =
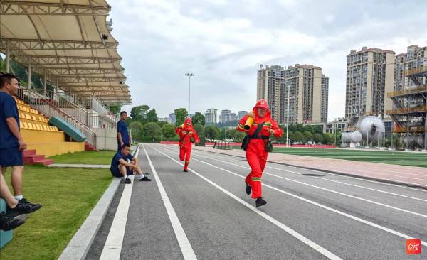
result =
[[[151,146],[152,147],[152,146]],[[167,158],[171,159],[172,161],[174,161],[175,163],[178,163],[179,165],[183,166],[182,163],[180,163],[179,161],[176,161],[174,158],[168,156],[166,153],[162,153],[162,151],[157,150],[156,148],[152,147],[154,150],[156,150],[157,152],[163,154],[164,156],[166,156]],[[228,190],[222,188],[220,185],[212,182],[211,180],[205,178],[204,176],[200,175],[199,173],[197,173],[195,170],[192,170],[191,168],[189,168],[189,171],[191,173],[194,173],[195,175],[199,176],[200,178],[202,178],[203,180],[205,180],[206,182],[210,183],[211,185],[214,185],[215,188],[218,188],[218,190],[221,190],[223,193],[226,193],[226,195],[232,197],[234,200],[237,200],[238,202],[240,202],[242,205],[248,207],[248,209],[252,210],[253,212],[255,212],[256,214],[260,215],[261,217],[265,218],[265,220],[270,221],[271,223],[275,224],[276,226],[280,227],[280,229],[283,229],[283,231],[288,232],[288,234],[292,235],[292,237],[295,237],[296,239],[300,240],[301,242],[307,244],[308,246],[310,246],[312,249],[315,249],[316,251],[318,251],[320,254],[323,254],[324,256],[326,256],[328,259],[341,259],[338,256],[332,254],[330,251],[328,251],[327,249],[321,247],[320,245],[316,244],[315,242],[312,242],[310,239],[307,239],[307,237],[302,236],[302,234],[296,232],[295,230],[291,229],[290,227],[286,226],[285,224],[283,224],[282,222],[279,222],[278,220],[275,220],[275,218],[270,217],[270,215],[265,214],[264,212],[258,210],[256,207],[253,207],[252,205],[250,205],[248,202],[242,200],[240,197],[237,197],[236,195],[234,195],[233,193],[230,193]]]

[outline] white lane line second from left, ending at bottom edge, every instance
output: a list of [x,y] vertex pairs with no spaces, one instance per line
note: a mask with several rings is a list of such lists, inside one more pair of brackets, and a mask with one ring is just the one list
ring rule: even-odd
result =
[[176,216],[176,212],[174,207],[172,207],[172,203],[167,196],[166,190],[164,190],[162,181],[160,181],[159,175],[157,175],[157,171],[153,166],[151,159],[148,156],[147,150],[145,150],[144,144],[142,145],[144,148],[145,155],[147,156],[149,167],[151,167],[154,179],[156,179],[157,188],[159,188],[160,195],[162,196],[162,200],[164,203],[164,207],[166,207],[167,215],[169,215],[169,220],[171,221],[172,228],[174,229],[176,240],[178,240],[179,247],[182,252],[182,256],[184,259],[197,259],[196,254],[194,254],[193,248],[189,242],[189,239],[186,237],[184,229],[181,226],[181,222],[179,222],[178,216]]

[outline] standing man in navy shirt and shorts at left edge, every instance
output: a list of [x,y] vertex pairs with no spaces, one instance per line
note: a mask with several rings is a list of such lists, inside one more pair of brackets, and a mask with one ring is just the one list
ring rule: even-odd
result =
[[23,161],[22,151],[26,149],[19,129],[19,114],[12,95],[19,90],[19,82],[14,75],[0,75],[0,166],[1,173],[12,168],[11,184],[15,198],[21,204],[38,210],[39,204],[32,204],[22,195]]

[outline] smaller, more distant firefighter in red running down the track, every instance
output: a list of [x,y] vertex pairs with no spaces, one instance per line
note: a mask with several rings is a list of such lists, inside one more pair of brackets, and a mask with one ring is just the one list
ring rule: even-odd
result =
[[184,171],[187,172],[191,157],[192,143],[199,143],[200,139],[193,128],[191,118],[185,119],[182,126],[176,127],[176,134],[179,134],[179,159],[184,162]]

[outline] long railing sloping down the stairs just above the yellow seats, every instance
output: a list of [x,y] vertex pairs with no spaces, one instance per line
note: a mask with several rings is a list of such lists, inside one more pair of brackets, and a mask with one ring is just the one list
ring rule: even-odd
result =
[[[48,94],[48,92],[46,92],[46,94]],[[60,117],[61,119],[65,120],[68,124],[74,126],[75,129],[78,129],[80,132],[82,132],[86,136],[87,142],[91,146],[96,147],[95,132],[86,126],[82,121],[75,118],[73,115],[68,114],[68,112],[66,112],[68,104],[65,104],[65,102],[61,101],[60,98],[51,99],[48,97],[48,95],[24,88],[19,90],[18,97],[23,102],[26,102],[27,104],[31,105],[31,107],[34,107],[34,109],[37,109],[42,114],[45,114],[46,117]]]

